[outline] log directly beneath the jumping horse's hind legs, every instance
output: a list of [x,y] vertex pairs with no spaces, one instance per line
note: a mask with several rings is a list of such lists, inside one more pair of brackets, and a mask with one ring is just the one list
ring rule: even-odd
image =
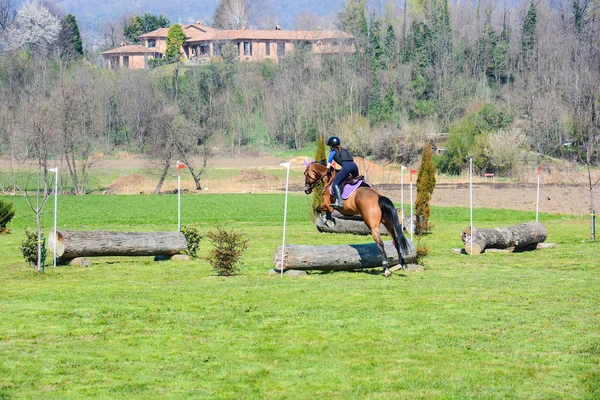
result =
[[[390,267],[398,264],[398,253],[391,241],[384,242]],[[403,253],[405,263],[417,259],[415,245],[408,241],[408,252]],[[284,270],[352,271],[381,267],[381,254],[377,244],[349,244],[338,246],[285,245]],[[273,254],[275,269],[281,271],[281,246]]]

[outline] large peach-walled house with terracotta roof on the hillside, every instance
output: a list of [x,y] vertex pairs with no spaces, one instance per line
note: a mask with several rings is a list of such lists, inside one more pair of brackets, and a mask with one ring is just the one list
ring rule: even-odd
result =
[[[222,57],[229,51],[237,53],[240,61],[278,62],[291,51],[302,48],[313,54],[354,53],[354,37],[336,30],[285,31],[274,30],[223,30],[205,26],[200,22],[183,27],[186,41],[181,48],[184,59],[189,63],[209,61]],[[148,60],[162,58],[167,49],[168,28],[159,28],[140,36],[140,45],[122,44],[102,55],[108,60],[109,68],[147,68]]]

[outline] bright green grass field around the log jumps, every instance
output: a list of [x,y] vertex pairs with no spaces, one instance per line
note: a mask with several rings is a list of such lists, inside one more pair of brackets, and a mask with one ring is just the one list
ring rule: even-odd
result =
[[[466,256],[451,249],[468,209],[434,208],[423,273],[281,279],[267,272],[283,195],[185,195],[183,223],[249,239],[239,275],[150,257],[37,275],[18,250],[33,214],[4,199],[17,216],[0,236],[0,399],[600,398],[600,245],[585,217],[540,216],[555,249]],[[176,205],[65,196],[59,228],[175,230]],[[317,233],[309,209],[309,196],[289,197],[286,243],[370,241]],[[475,211],[480,227],[533,217]]]

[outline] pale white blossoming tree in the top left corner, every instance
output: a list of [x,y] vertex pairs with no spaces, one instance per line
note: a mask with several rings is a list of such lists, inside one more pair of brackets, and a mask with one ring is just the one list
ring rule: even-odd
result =
[[46,51],[58,40],[60,31],[60,20],[48,7],[28,1],[19,8],[4,37],[9,50]]

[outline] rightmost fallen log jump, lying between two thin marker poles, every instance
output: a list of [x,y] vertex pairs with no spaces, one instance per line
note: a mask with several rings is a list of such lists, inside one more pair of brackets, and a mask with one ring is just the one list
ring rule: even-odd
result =
[[535,250],[538,243],[548,237],[548,230],[539,222],[528,222],[507,228],[462,230],[461,238],[467,254],[480,254],[485,249],[509,249],[513,251]]

